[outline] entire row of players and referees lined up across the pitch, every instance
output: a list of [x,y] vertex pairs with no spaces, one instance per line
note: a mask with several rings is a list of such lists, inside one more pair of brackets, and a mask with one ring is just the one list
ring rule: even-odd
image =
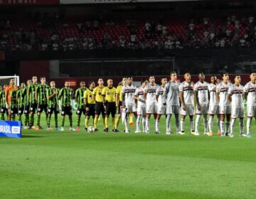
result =
[[[132,77],[124,77],[121,84],[115,88],[113,81],[107,80],[104,86],[103,80],[89,82],[89,87],[85,88],[85,82],[80,82],[80,88],[75,91],[75,102],[78,104],[77,131],[80,131],[80,118],[82,113],[85,117],[85,130],[88,128],[90,117],[93,120],[93,127],[97,131],[97,122],[102,114],[104,131],[109,131],[109,117],[112,116],[112,131],[117,132],[122,111],[125,110],[124,124],[126,133],[129,133],[128,116],[134,114],[136,119],[136,131],[139,133],[142,122],[142,132],[149,133],[149,119],[154,115],[155,132],[159,134],[159,119],[161,115],[166,116],[166,134],[171,134],[171,116],[174,114],[176,123],[176,133],[184,134],[184,121],[186,115],[189,116],[190,134],[199,135],[198,125],[203,115],[204,134],[213,135],[213,117],[217,115],[218,134],[234,136],[234,124],[236,119],[240,119],[240,136],[250,136],[250,126],[252,117],[256,116],[256,73],[250,74],[250,82],[243,87],[240,85],[240,75],[235,76],[235,84],[229,81],[227,72],[221,74],[223,81],[217,84],[217,77],[210,77],[211,83],[205,82],[205,75],[201,72],[198,75],[198,82],[191,82],[191,75],[186,72],[182,83],[177,81],[176,72],[171,72],[171,80],[161,79],[161,85],[156,85],[154,76],[148,80],[141,81],[141,87],[132,84]],[[46,78],[41,77],[41,84],[37,83],[37,77],[21,83],[18,88],[14,85],[14,80],[4,88],[5,92],[0,91],[1,99],[1,119],[7,112],[9,119],[21,120],[21,115],[25,115],[24,129],[43,129],[41,123],[41,113],[46,112],[47,129],[50,127],[50,118],[54,113],[55,129],[58,129],[58,113],[60,100],[62,124],[60,130],[64,130],[65,115],[70,121],[70,130],[74,131],[72,120],[71,99],[73,90],[70,82],[65,82],[65,87],[58,90],[55,82],[46,85]],[[1,90],[1,88],[0,88]],[[245,107],[243,99],[247,99],[247,134],[243,134]],[[196,108],[194,108],[196,103]],[[33,126],[34,114],[37,109],[37,125]],[[196,121],[194,130],[194,109],[196,109]],[[117,112],[117,116],[115,115]],[[181,114],[181,121],[179,121]],[[225,122],[226,119],[226,122]],[[230,123],[231,119],[231,123]],[[225,123],[225,128],[224,128]]]

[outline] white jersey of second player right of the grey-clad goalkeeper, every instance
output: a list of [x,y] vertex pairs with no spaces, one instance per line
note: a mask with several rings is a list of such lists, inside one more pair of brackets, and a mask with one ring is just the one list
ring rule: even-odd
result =
[[208,104],[208,82],[196,82],[196,84],[193,87],[194,91],[198,92],[198,101],[199,104]]

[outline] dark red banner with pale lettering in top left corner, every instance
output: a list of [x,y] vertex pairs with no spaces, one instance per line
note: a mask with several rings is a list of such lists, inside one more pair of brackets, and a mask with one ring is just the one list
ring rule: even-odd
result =
[[60,4],[60,0],[0,0],[0,6],[47,6],[58,4]]

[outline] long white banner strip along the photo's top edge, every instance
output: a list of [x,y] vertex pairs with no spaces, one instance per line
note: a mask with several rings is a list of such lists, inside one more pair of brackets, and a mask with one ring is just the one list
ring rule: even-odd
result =
[[[1,0],[0,0],[1,1]],[[115,4],[171,1],[202,1],[202,0],[60,0],[60,4]]]

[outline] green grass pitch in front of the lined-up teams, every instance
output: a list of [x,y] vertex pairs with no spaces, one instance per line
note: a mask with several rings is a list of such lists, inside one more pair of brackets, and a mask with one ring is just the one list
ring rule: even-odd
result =
[[166,136],[164,118],[159,135],[66,129],[0,139],[1,198],[255,198],[256,139],[238,121],[233,139]]

